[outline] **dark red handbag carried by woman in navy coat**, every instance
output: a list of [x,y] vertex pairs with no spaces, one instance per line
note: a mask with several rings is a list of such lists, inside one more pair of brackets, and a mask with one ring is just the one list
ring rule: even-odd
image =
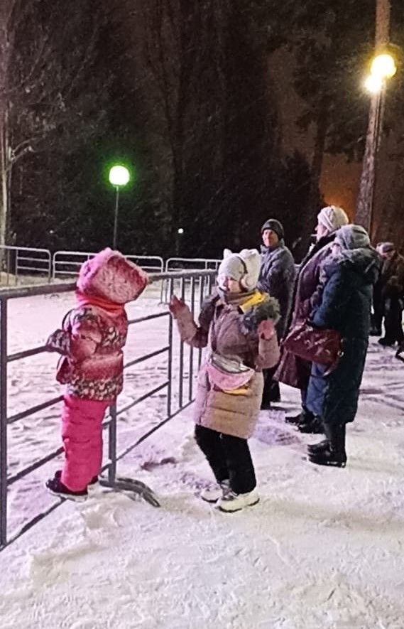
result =
[[337,330],[320,330],[308,323],[293,328],[282,345],[295,356],[326,367],[335,367],[344,353]]

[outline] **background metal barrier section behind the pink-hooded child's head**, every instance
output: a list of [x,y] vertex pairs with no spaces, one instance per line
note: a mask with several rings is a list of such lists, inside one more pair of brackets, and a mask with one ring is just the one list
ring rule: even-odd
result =
[[[80,251],[57,251],[53,254],[52,276],[53,279],[60,277],[75,277],[79,274],[83,262],[94,257],[96,252]],[[164,260],[160,256],[138,256],[127,255],[126,258],[132,260],[139,267],[147,272],[162,273],[164,271]]]

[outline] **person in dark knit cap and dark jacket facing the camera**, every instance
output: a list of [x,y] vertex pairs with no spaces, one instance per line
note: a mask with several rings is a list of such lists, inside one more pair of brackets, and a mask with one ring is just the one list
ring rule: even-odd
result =
[[[261,227],[263,245],[261,245],[261,271],[258,289],[275,297],[279,302],[280,320],[276,326],[278,342],[283,339],[288,326],[290,308],[293,301],[293,285],[295,284],[295,261],[288,247],[285,246],[285,232],[278,220],[270,218]],[[278,382],[273,380],[276,366],[264,370],[264,387],[262,409],[271,407],[271,402],[280,400]]]

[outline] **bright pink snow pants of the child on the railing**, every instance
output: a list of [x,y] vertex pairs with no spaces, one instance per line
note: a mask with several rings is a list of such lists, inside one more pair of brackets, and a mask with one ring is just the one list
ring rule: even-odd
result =
[[62,439],[65,463],[62,483],[71,491],[85,489],[102,464],[102,420],[113,402],[80,399],[65,394],[62,409]]

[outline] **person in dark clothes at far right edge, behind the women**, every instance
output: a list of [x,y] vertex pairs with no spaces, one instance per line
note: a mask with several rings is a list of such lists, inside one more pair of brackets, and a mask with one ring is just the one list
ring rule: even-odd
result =
[[384,347],[401,345],[404,341],[404,257],[398,253],[393,242],[379,246],[383,259],[381,271],[381,299],[383,303],[385,335],[378,343]]

